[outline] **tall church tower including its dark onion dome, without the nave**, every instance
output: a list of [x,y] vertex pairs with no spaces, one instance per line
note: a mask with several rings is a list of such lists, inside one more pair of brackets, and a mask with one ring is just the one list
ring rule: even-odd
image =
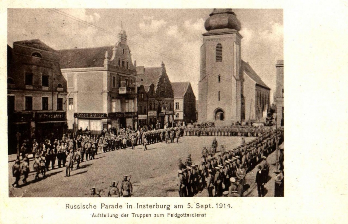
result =
[[231,125],[241,120],[241,23],[232,9],[214,9],[204,26],[198,122]]

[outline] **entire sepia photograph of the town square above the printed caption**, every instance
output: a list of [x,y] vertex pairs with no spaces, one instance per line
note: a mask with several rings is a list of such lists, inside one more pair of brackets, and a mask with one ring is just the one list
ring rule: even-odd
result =
[[8,8],[8,196],[284,197],[283,29],[283,9]]

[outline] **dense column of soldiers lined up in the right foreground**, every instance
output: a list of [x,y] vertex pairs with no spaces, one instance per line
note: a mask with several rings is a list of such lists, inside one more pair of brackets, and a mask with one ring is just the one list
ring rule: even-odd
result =
[[217,153],[214,139],[211,147],[202,150],[200,164],[193,164],[189,155],[185,163],[178,163],[178,191],[180,197],[192,197],[207,189],[209,197],[243,197],[245,177],[257,164],[262,175],[268,177],[267,156],[276,149],[283,130],[278,130],[278,139],[273,130],[264,130],[259,137],[235,149],[226,150],[223,145]]

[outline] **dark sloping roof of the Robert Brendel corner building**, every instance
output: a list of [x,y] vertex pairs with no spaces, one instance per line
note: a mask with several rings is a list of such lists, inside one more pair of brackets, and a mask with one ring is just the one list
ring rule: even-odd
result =
[[62,69],[67,68],[88,68],[103,67],[105,52],[112,54],[114,46],[95,47],[95,48],[74,48],[59,50],[60,65]]

